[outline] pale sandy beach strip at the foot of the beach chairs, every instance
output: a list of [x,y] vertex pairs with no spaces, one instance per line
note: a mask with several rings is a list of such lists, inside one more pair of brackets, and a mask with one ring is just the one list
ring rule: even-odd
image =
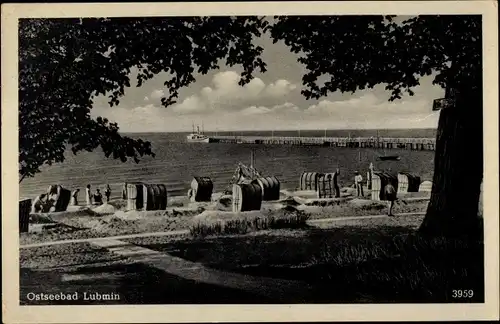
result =
[[[425,196],[416,199],[406,198],[407,204],[396,205],[394,212],[396,214],[425,212],[429,193],[420,194]],[[321,219],[363,218],[387,211],[385,201],[372,201],[367,197],[358,198],[346,192],[343,192],[343,195],[344,197],[340,199],[314,199],[307,196],[293,197],[282,193],[280,200],[262,202],[260,210],[239,213],[233,213],[230,205],[221,204],[218,199],[210,202],[190,202],[185,196],[169,199],[165,210],[126,210],[126,201],[121,199],[91,208],[71,206],[64,212],[30,215],[30,229],[28,233],[21,233],[20,244],[151,232],[190,231],[200,222],[204,224],[202,226],[210,227],[214,221],[224,223],[241,219],[241,217],[244,217],[243,219],[250,217],[249,220],[255,217],[294,218],[295,214],[297,216],[303,214],[315,223],[316,220]],[[214,196],[219,195],[215,193]],[[325,222],[319,221],[318,223]]]

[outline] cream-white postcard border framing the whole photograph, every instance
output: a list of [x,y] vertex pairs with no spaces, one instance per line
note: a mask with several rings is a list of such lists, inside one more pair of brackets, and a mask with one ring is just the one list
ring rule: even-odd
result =
[[[6,323],[498,319],[498,8],[496,1],[94,3],[2,5],[2,286]],[[484,304],[19,306],[17,19],[20,17],[482,14]]]

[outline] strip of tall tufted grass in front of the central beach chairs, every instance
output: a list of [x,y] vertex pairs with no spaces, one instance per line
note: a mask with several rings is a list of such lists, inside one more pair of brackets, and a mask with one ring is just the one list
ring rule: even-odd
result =
[[296,229],[307,227],[310,215],[299,210],[277,211],[258,214],[232,214],[232,217],[220,217],[220,212],[209,217],[201,217],[190,227],[194,237],[207,237],[213,235],[246,234],[248,232],[266,229]]

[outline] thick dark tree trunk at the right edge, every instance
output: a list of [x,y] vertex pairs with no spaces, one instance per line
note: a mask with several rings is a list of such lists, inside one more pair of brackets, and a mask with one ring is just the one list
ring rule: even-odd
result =
[[471,88],[461,87],[455,105],[440,112],[431,200],[419,229],[423,235],[473,239],[483,235],[478,217],[483,179],[482,91]]

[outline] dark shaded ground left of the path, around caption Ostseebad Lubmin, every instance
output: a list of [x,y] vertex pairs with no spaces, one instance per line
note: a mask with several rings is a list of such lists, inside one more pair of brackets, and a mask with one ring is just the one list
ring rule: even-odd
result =
[[[29,293],[74,294],[76,301],[30,301]],[[94,293],[116,293],[119,300],[84,300]],[[32,295],[30,295],[31,297]],[[75,271],[21,268],[21,305],[234,304],[266,302],[240,291],[197,283],[142,264],[89,266]]]

